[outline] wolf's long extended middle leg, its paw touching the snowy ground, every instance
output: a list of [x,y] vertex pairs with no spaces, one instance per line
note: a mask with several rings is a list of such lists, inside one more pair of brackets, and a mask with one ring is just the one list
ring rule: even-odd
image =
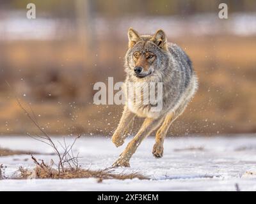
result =
[[140,131],[137,133],[136,136],[134,136],[131,142],[129,142],[124,152],[122,152],[122,154],[118,157],[118,159],[112,166],[130,166],[129,161],[131,159],[132,154],[134,154],[142,140],[146,138],[150,133],[152,133],[152,131],[154,131],[154,129],[156,129],[161,124],[162,121],[162,118],[145,119],[140,128]]

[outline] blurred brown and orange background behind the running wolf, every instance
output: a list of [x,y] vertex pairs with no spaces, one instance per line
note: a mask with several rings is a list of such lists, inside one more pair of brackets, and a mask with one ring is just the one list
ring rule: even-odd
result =
[[47,133],[111,135],[122,106],[93,105],[93,84],[124,80],[129,27],[163,29],[198,73],[172,135],[256,132],[256,1],[0,0],[0,135],[35,131],[15,94]]

